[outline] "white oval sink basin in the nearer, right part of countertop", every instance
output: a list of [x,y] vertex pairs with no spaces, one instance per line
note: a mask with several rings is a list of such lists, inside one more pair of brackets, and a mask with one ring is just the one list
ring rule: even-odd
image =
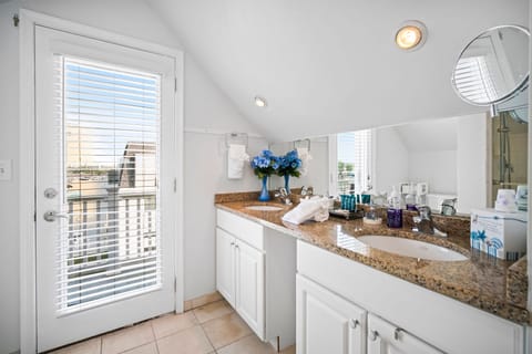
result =
[[399,256],[431,261],[464,261],[468,258],[448,248],[400,237],[368,235],[357,238],[362,243]]

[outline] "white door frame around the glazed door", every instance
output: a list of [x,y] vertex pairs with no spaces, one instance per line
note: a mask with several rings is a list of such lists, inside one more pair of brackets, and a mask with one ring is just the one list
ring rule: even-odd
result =
[[177,235],[174,243],[175,311],[183,312],[183,52],[156,43],[20,9],[19,31],[19,162],[20,162],[20,352],[37,352],[37,248],[35,248],[35,72],[34,28],[48,27],[82,37],[170,56],[175,62],[175,204]]

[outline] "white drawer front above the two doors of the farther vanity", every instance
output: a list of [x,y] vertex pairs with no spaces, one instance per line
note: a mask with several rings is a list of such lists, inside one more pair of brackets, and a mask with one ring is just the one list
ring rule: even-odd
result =
[[262,225],[222,209],[216,209],[216,223],[244,242],[264,251],[264,228]]

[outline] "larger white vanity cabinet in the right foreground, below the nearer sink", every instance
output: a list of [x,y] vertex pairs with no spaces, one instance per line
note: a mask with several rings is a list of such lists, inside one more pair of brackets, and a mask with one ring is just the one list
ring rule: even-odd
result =
[[523,325],[304,241],[297,284],[298,354],[358,353],[350,346],[360,341],[349,327],[354,308],[367,312],[359,333],[367,333],[369,354],[524,353]]

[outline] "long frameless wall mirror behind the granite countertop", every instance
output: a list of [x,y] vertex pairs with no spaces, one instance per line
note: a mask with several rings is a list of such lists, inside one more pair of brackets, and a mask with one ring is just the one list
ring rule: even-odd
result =
[[[310,140],[309,173],[291,184],[313,186],[320,195],[365,188],[379,195],[392,186],[400,190],[401,185],[427,184],[423,202],[434,211],[440,211],[443,200],[457,198],[457,211],[469,214],[472,208],[493,207],[499,188],[515,189],[528,180],[528,124],[510,112],[494,118],[482,113],[426,119]],[[272,149],[284,154],[293,146],[275,143]],[[360,166],[365,159],[368,165]],[[280,186],[280,178],[273,180],[272,187]]]

